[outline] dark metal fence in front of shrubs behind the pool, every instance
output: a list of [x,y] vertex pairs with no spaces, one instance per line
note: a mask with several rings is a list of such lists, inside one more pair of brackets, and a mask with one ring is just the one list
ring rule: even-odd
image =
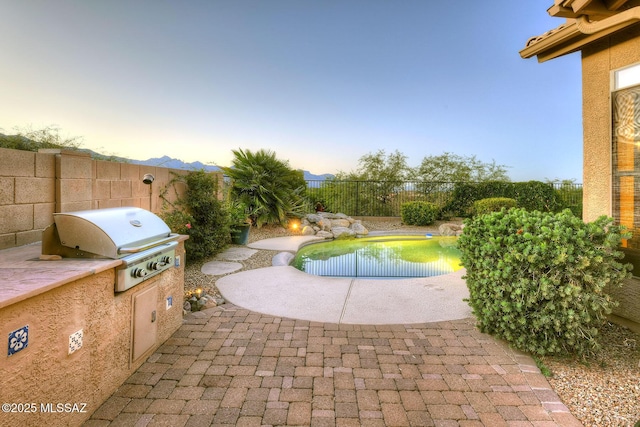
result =
[[[400,216],[406,202],[427,201],[446,207],[458,183],[422,181],[307,180],[308,210],[322,208],[349,216]],[[582,214],[582,184],[549,183],[563,207]]]

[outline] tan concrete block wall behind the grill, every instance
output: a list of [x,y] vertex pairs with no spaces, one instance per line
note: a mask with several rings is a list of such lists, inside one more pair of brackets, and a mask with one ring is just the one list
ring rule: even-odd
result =
[[[78,151],[0,148],[0,249],[42,240],[54,212],[134,206],[158,214],[161,192],[174,174],[185,173],[93,160]],[[145,174],[155,177],[151,185],[142,182]],[[170,201],[186,190],[183,185],[175,188],[165,196]]]

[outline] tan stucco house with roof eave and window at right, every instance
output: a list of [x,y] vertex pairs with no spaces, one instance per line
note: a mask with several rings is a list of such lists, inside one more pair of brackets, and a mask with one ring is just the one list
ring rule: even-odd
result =
[[[614,138],[612,120],[614,71],[640,64],[640,1],[553,0],[547,13],[563,21],[558,21],[560,25],[556,28],[527,40],[520,55],[525,59],[537,57],[539,62],[544,62],[580,52],[583,94],[583,219],[593,221],[599,216],[607,215],[624,225],[634,227],[634,239],[625,242],[623,250],[626,252],[626,261],[634,265],[634,275],[640,276],[640,252],[635,241],[639,231],[635,219],[639,206],[638,190],[634,187],[634,181],[637,183],[637,150],[629,150],[630,146],[625,145],[625,151],[619,151],[617,144],[623,139],[620,135]],[[631,77],[616,89],[631,89],[637,83],[637,76]],[[618,93],[623,93],[622,90]],[[624,113],[630,117],[624,118],[626,123],[637,131],[638,124],[633,123],[632,109],[638,107],[625,104],[624,108]],[[625,135],[624,138],[624,144],[628,144],[629,137]],[[615,158],[614,142],[615,149],[618,150]],[[618,165],[622,164],[623,169],[614,171],[614,160]],[[640,278],[626,280],[621,288],[609,288],[607,291],[620,304],[614,309],[614,320],[640,330]]]

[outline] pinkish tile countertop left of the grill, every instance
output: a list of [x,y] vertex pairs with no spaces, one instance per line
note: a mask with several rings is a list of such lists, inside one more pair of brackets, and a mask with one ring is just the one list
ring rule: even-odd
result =
[[41,245],[0,250],[0,309],[122,264],[119,259],[41,260]]

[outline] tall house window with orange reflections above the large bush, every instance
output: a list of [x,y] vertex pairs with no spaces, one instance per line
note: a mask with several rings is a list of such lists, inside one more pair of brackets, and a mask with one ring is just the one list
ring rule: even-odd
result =
[[633,233],[622,246],[640,276],[640,64],[613,77],[613,218]]

